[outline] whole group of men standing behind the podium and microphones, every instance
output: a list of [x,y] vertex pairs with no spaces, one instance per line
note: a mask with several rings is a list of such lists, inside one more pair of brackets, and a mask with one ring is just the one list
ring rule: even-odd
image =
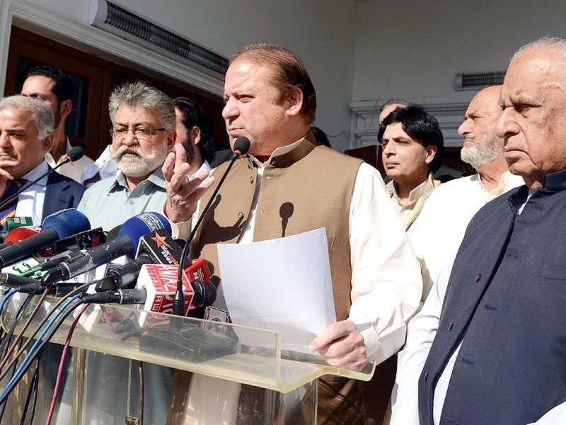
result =
[[[229,60],[222,116],[231,146],[246,136],[250,149],[204,216],[196,254],[221,285],[217,244],[325,227],[337,322],[310,349],[351,370],[399,352],[386,422],[566,422],[565,66],[566,40],[521,47],[503,85],[479,91],[458,128],[461,159],[477,174],[446,183],[435,177],[444,150],[437,120],[386,102],[386,185],[369,164],[316,140],[316,91],[296,55],[241,48]],[[21,95],[0,101],[0,202],[64,159],[71,98],[67,74],[38,67]],[[100,158],[26,188],[0,211],[2,226],[78,208],[110,230],[157,211],[175,237],[187,236],[228,166],[211,165],[208,118],[141,81],[115,89],[109,113],[112,144]],[[294,213],[283,224],[284,203]],[[318,400],[319,424],[364,424],[376,402],[363,382],[333,376],[320,378]]]

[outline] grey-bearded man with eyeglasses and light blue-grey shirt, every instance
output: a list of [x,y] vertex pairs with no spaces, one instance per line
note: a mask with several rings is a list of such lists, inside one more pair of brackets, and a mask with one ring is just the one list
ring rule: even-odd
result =
[[166,181],[161,164],[175,143],[175,107],[142,81],[110,95],[112,159],[119,172],[88,188],[77,208],[92,227],[110,230],[144,211],[163,211]]

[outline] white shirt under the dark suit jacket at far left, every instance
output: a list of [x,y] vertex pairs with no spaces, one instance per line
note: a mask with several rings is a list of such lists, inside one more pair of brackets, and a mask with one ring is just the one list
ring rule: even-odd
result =
[[[49,171],[49,166],[44,159],[35,169],[25,174],[23,179],[34,181],[42,174],[47,173],[47,171]],[[45,200],[46,187],[47,176],[20,193],[18,195],[18,206],[16,206],[16,217],[31,217],[33,225],[40,226],[43,216],[43,202]]]

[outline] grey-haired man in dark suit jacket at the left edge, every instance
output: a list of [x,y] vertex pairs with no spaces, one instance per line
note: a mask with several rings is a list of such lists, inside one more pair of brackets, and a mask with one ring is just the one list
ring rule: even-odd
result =
[[14,215],[44,217],[79,204],[84,186],[59,174],[50,174],[26,188],[12,202],[13,194],[49,170],[45,152],[52,144],[53,112],[45,102],[24,96],[0,101],[0,225]]

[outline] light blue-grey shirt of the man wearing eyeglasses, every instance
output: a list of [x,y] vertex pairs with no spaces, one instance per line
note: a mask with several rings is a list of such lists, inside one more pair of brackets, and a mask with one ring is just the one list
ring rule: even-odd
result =
[[122,172],[97,181],[85,191],[76,209],[88,217],[91,228],[102,227],[108,232],[141,212],[163,214],[166,199],[166,181],[159,167],[131,192]]

